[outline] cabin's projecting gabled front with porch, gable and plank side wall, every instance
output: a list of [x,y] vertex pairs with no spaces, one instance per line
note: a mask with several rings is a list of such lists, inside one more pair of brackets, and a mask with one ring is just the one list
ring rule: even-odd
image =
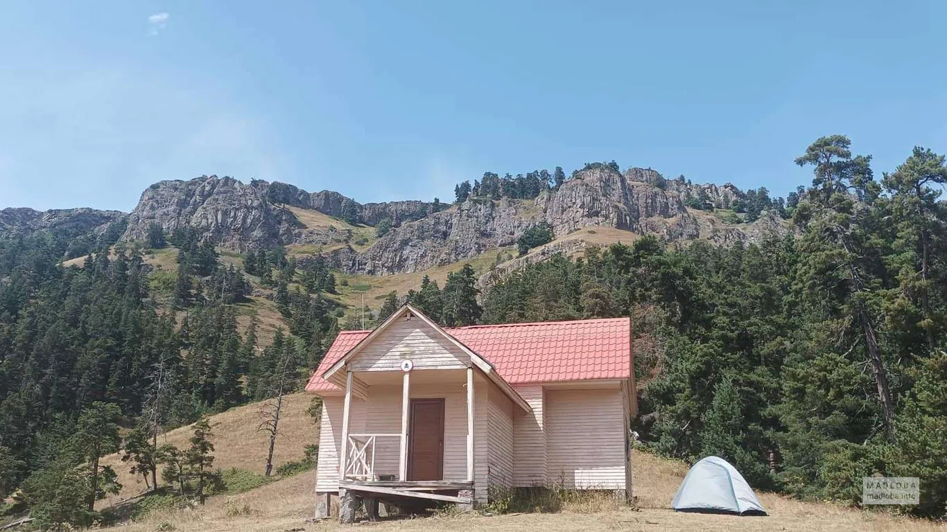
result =
[[492,364],[410,305],[358,334],[309,388],[324,398],[316,490],[337,489],[344,521],[358,499],[470,506],[511,480],[512,417],[530,406]]

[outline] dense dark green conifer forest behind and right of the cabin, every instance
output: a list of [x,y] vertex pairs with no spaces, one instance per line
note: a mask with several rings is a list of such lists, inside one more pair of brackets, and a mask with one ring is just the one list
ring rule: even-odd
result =
[[552,257],[492,287],[482,321],[632,316],[653,339],[635,356],[648,448],[723,455],[755,487],[848,503],[866,476],[918,476],[912,511],[942,515],[947,165],[916,149],[879,184],[849,148],[813,143],[797,160],[813,186],[789,204],[760,188],[737,205],[750,220],[788,205],[795,235]]

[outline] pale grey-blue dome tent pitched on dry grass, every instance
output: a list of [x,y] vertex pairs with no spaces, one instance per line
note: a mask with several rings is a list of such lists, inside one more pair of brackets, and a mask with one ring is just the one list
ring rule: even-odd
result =
[[740,471],[717,456],[688,470],[670,505],[677,511],[766,515]]

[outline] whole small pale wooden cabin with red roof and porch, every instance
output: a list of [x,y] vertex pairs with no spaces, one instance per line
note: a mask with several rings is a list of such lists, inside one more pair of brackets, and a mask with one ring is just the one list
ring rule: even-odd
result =
[[316,480],[331,495],[473,504],[496,488],[631,496],[629,318],[441,328],[410,305],[339,333],[306,386],[323,398]]

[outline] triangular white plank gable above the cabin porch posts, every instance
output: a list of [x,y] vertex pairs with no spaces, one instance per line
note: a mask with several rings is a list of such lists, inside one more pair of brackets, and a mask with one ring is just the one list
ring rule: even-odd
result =
[[400,371],[402,360],[416,369],[463,369],[470,356],[419,318],[403,318],[366,345],[351,360],[352,371]]

